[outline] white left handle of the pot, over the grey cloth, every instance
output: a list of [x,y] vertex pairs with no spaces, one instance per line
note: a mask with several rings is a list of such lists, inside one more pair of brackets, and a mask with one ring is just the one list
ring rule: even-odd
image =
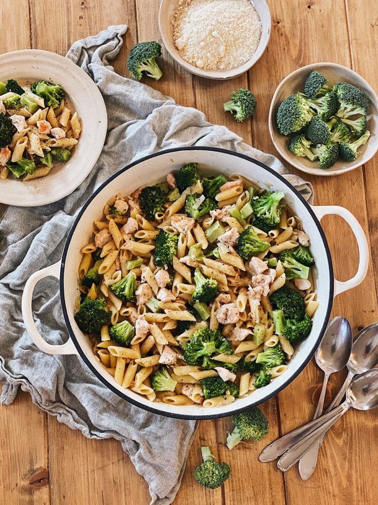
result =
[[35,345],[46,354],[78,354],[74,342],[69,338],[66,343],[61,345],[48,344],[39,331],[34,322],[32,311],[33,291],[37,282],[44,277],[56,277],[59,279],[60,261],[51,265],[50,267],[43,268],[32,274],[26,281],[24,292],[22,294],[22,317],[24,319],[25,327]]

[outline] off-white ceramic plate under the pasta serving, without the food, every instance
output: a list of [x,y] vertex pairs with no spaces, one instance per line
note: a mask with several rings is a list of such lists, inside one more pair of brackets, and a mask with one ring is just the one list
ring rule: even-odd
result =
[[23,182],[0,180],[0,202],[21,207],[51,204],[71,194],[87,177],[105,142],[107,114],[92,79],[67,58],[36,49],[0,56],[0,80],[47,80],[60,84],[78,113],[82,132],[70,161],[53,167],[46,177]]

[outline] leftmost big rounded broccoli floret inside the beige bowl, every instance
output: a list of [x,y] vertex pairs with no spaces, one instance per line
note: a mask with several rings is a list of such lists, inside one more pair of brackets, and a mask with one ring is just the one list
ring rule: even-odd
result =
[[299,93],[288,96],[277,111],[277,127],[281,135],[290,135],[303,128],[314,116],[314,111]]

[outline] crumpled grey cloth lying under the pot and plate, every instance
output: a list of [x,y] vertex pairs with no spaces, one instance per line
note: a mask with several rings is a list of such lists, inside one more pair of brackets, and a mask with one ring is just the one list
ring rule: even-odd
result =
[[[224,126],[208,123],[202,112],[117,75],[109,62],[117,56],[126,31],[125,25],[110,26],[75,42],[67,55],[98,85],[108,112],[106,142],[95,168],[70,196],[43,207],[10,207],[2,220],[0,380],[5,385],[0,400],[11,403],[21,386],[41,409],[86,437],[120,440],[149,485],[151,503],[168,505],[179,487],[196,422],[168,419],[128,404],[105,388],[77,356],[43,354],[31,342],[21,316],[25,281],[59,260],[78,210],[99,184],[133,160],[162,149],[231,149],[272,167],[307,200],[312,188],[289,174],[274,156],[246,145]],[[35,288],[34,316],[48,342],[67,340],[57,284],[51,278]]]

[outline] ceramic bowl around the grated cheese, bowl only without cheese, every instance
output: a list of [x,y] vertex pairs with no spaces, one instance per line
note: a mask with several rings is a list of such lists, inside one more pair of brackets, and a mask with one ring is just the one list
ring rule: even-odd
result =
[[195,67],[190,63],[185,62],[177,51],[173,40],[173,30],[172,30],[172,20],[174,18],[174,13],[179,7],[185,5],[186,0],[162,0],[159,10],[159,30],[163,43],[171,55],[171,57],[184,69],[192,72],[192,74],[199,75],[200,77],[206,77],[208,79],[232,79],[238,75],[243,74],[259,60],[268,45],[270,32],[272,27],[272,20],[270,16],[270,11],[268,4],[265,0],[258,0],[257,2],[252,2],[260,16],[262,24],[262,33],[259,45],[256,49],[255,54],[252,58],[246,61],[243,65],[235,67],[231,70],[203,70],[201,68]]

